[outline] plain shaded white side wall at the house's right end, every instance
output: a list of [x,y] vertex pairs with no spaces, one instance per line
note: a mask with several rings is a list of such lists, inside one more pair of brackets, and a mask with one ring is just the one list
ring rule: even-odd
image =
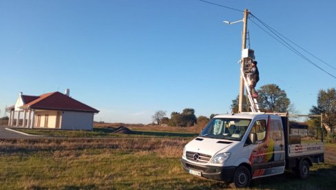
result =
[[92,130],[94,113],[91,112],[67,112],[62,114],[61,129]]

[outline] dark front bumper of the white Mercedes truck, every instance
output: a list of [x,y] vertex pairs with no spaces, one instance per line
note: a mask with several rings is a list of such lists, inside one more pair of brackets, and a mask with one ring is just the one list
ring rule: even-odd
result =
[[203,178],[208,178],[211,180],[221,180],[226,182],[231,182],[233,180],[233,174],[237,167],[216,167],[216,166],[204,166],[196,165],[187,160],[181,159],[182,167],[187,172],[189,170],[199,171]]

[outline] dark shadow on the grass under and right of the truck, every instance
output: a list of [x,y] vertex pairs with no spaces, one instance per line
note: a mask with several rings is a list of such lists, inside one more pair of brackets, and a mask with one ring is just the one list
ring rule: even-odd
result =
[[[318,167],[318,166],[317,166]],[[312,168],[311,168],[312,169]],[[258,178],[251,181],[251,189],[334,189],[336,187],[336,165],[318,168],[309,172],[302,180],[293,171],[284,174]]]

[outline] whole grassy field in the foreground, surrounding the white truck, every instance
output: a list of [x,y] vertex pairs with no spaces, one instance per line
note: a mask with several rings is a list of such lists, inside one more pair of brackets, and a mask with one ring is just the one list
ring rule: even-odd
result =
[[[0,189],[222,189],[182,170],[190,138],[39,138],[0,140]],[[251,189],[333,189],[336,145],[326,162],[299,180],[291,171],[251,182]]]

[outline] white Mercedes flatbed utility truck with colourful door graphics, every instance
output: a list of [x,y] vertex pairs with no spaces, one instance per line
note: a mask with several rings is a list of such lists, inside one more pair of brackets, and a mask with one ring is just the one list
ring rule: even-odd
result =
[[[248,187],[251,180],[293,169],[307,178],[313,162],[324,162],[324,142],[291,134],[286,114],[215,116],[183,149],[182,167],[195,176]],[[301,142],[302,141],[302,142]]]

